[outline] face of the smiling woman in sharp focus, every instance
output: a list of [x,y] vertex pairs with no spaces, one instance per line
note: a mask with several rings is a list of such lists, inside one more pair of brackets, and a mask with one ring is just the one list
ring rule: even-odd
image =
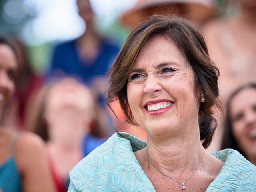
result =
[[192,67],[164,36],[155,36],[142,47],[127,95],[135,121],[148,135],[177,136],[198,127],[199,95],[195,96]]

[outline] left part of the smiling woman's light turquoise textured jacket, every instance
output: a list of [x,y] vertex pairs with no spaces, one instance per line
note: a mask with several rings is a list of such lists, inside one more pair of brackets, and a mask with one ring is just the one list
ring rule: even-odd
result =
[[[69,191],[97,191],[99,188],[116,191],[126,188],[124,183],[121,185],[124,180],[129,184],[129,179],[138,182],[137,177],[142,170],[134,151],[142,147],[140,141],[130,134],[115,133],[72,169]],[[126,178],[127,175],[130,178]],[[146,178],[142,177],[144,179],[144,184],[147,184]]]

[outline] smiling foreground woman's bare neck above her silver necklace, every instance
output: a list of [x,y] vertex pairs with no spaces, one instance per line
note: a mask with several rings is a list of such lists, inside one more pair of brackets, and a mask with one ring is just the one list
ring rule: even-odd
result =
[[[160,172],[177,177],[192,173],[206,154],[198,137],[171,139],[159,144],[148,138],[146,156]],[[193,137],[193,139],[191,139]]]

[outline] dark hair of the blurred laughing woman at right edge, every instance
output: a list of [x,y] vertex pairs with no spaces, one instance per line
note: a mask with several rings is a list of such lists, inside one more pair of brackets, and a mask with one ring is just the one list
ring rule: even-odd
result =
[[248,88],[254,88],[256,89],[256,83],[250,83],[246,84],[244,86],[239,87],[236,89],[228,98],[228,102],[226,104],[226,117],[224,121],[224,134],[222,136],[222,144],[221,149],[231,148],[235,149],[240,152],[240,154],[244,155],[244,152],[239,148],[238,143],[236,142],[236,139],[234,138],[234,134],[232,131],[232,122],[231,122],[231,116],[230,116],[230,109],[231,109],[231,102],[233,98],[240,92],[242,92],[245,89]]

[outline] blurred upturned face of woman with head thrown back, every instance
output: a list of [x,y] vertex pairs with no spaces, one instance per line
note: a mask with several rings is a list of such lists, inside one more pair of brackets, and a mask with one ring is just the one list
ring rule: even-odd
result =
[[50,139],[69,145],[90,132],[94,107],[94,98],[88,88],[72,78],[58,82],[50,89],[45,101],[44,117]]

